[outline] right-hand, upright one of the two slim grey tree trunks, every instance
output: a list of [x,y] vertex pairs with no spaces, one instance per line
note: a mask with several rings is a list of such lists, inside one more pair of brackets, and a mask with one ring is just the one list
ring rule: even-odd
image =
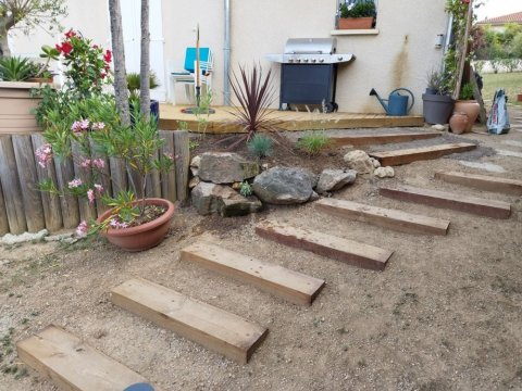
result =
[[139,106],[141,114],[150,116],[150,34],[149,0],[141,0],[141,61],[140,61]]

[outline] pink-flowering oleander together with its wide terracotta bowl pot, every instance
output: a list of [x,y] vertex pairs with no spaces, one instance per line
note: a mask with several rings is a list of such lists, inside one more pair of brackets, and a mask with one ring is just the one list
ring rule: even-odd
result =
[[[153,117],[147,119],[135,112],[134,118],[133,126],[122,125],[114,98],[105,94],[71,103],[69,113],[51,110],[44,133],[47,143],[36,151],[36,156],[44,167],[54,157],[55,162],[74,159],[89,174],[83,177],[76,173],[77,176],[66,178],[67,186],[61,191],[48,179],[40,184],[41,190],[84,197],[92,204],[98,200],[111,207],[97,220],[82,222],[76,229],[78,236],[100,234],[123,250],[142,251],[163,240],[174,215],[172,202],[146,198],[147,180],[154,169],[160,173],[172,169],[174,157],[157,157],[164,140]],[[74,153],[73,146],[76,146]],[[96,155],[126,163],[129,185],[125,190],[114,197],[105,192],[101,178],[107,175],[103,169],[107,163],[104,159],[91,157],[92,150]]]

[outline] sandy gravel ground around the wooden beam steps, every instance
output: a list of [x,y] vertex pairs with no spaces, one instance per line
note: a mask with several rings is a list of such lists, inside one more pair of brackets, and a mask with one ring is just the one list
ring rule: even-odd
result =
[[[82,337],[162,390],[522,389],[521,198],[433,178],[436,171],[453,169],[488,175],[458,162],[469,159],[522,179],[522,159],[490,153],[497,148],[522,152],[517,143],[504,142],[522,142],[518,129],[506,136],[445,135],[451,142],[474,140],[486,152],[399,166],[396,178],[384,180],[510,202],[509,219],[385,199],[377,191],[382,181],[370,176],[335,194],[450,219],[445,237],[346,220],[309,203],[229,219],[179,207],[169,237],[144,253],[124,253],[103,241],[0,249],[0,390],[55,390],[11,352],[16,341],[49,324]],[[389,249],[394,255],[384,272],[359,269],[260,239],[254,226],[263,219]],[[302,307],[181,263],[181,249],[203,239],[323,278],[326,287],[312,306]],[[263,325],[270,333],[247,365],[235,364],[111,304],[111,288],[138,276]]]

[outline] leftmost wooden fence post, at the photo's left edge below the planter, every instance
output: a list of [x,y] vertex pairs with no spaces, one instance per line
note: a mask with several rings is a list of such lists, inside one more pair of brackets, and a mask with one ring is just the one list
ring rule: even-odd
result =
[[0,137],[0,180],[9,230],[15,235],[23,234],[27,230],[27,224],[11,136]]

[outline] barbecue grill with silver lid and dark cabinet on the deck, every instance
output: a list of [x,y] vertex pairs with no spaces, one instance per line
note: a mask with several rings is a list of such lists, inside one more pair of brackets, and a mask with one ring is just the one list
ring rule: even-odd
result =
[[356,56],[336,53],[336,38],[290,38],[283,54],[266,55],[282,64],[279,110],[290,110],[291,104],[324,104],[327,112],[337,110],[337,66]]

